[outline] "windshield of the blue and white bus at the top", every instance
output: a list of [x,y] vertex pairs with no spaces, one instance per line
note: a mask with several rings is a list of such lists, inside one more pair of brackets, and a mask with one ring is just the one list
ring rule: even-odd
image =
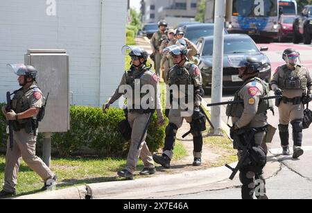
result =
[[277,17],[277,0],[234,0],[233,15],[241,17]]

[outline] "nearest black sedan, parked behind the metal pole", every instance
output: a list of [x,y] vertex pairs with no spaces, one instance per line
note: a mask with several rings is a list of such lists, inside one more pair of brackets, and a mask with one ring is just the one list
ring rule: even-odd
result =
[[[202,72],[203,87],[209,94],[212,78],[212,60],[214,37],[201,37],[197,46],[199,51],[198,67]],[[271,66],[268,57],[261,53],[267,51],[268,47],[258,47],[249,35],[229,34],[225,35],[224,55],[223,55],[223,90],[238,90],[243,85],[243,80],[239,78],[239,67],[243,67],[248,56],[259,58],[263,69],[260,77],[267,82],[271,78]]]

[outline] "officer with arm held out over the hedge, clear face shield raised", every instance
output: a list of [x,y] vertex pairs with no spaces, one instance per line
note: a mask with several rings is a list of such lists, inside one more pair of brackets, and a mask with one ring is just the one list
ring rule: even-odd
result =
[[[148,53],[137,46],[123,46],[123,49],[128,49],[130,51],[129,55],[131,56],[132,66],[130,70],[126,71],[123,75],[121,83],[112,97],[103,105],[103,112],[105,113],[107,108],[124,94],[124,91],[127,90],[125,89],[127,86],[132,89],[133,93],[127,91],[125,94],[129,111],[128,122],[132,128],[130,150],[125,169],[118,171],[117,174],[121,177],[133,180],[133,173],[137,167],[139,157],[143,160],[145,167],[143,171],[140,172],[141,175],[151,175],[156,172],[152,154],[148,150],[148,146],[145,142],[146,134],[144,135],[144,141],[141,143],[139,149],[137,149],[137,146],[144,128],[146,127],[146,123],[148,123],[150,112],[154,112],[154,110],[157,111],[157,123],[161,126],[164,125],[164,116],[162,114],[162,105],[159,97],[159,78],[151,71],[150,67],[146,67]],[[135,94],[135,87],[139,87],[140,90],[142,87],[146,86],[148,86],[150,93]],[[142,99],[146,96],[149,96],[148,100],[150,101],[148,103],[148,108],[142,105]]]

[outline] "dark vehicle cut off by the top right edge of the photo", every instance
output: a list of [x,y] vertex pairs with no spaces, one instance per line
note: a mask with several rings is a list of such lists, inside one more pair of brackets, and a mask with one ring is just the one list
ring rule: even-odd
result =
[[299,17],[293,22],[293,43],[311,44],[312,40],[312,6],[304,6]]

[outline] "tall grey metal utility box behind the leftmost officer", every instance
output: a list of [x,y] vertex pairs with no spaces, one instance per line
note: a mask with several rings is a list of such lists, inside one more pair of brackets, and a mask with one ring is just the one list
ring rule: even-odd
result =
[[38,70],[37,83],[44,97],[49,93],[40,133],[69,130],[69,56],[63,49],[29,49],[25,65]]

